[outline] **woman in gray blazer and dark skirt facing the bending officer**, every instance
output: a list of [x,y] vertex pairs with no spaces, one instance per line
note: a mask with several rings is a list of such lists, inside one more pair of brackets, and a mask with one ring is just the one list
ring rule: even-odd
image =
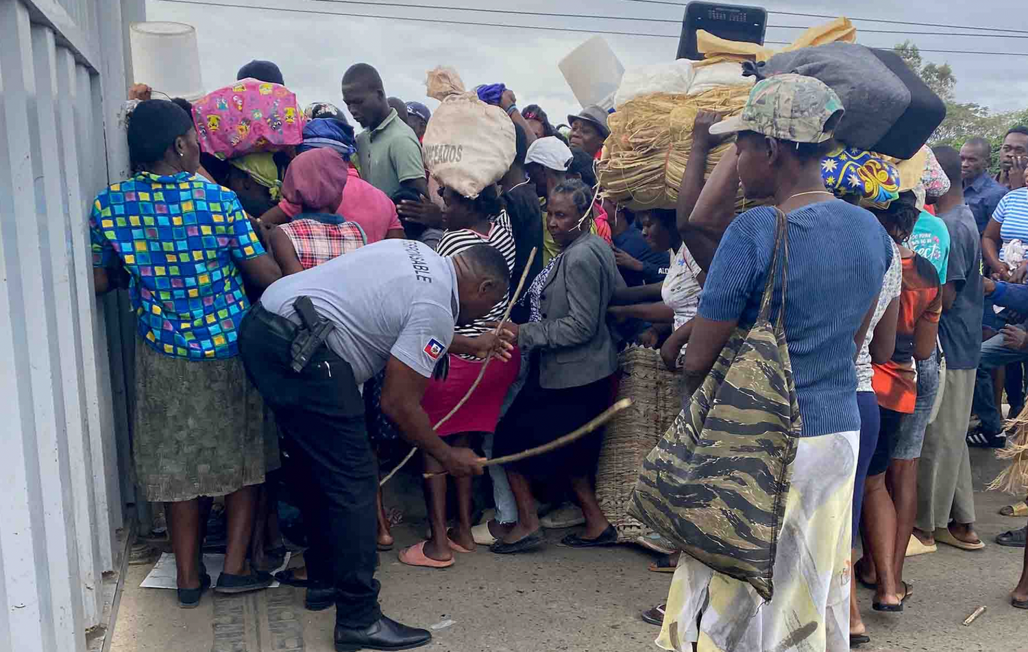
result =
[[[495,433],[495,457],[553,441],[603,411],[613,398],[618,367],[617,342],[607,325],[614,290],[624,286],[611,247],[589,232],[590,188],[578,180],[555,187],[547,203],[546,224],[561,247],[528,288],[530,320],[509,326],[531,367]],[[617,533],[596,502],[591,476],[596,470],[602,431],[545,456],[506,467],[517,501],[518,522],[493,552],[521,552],[545,542],[531,480],[567,478],[586,518],[582,536],[570,535],[572,547],[610,545]]]

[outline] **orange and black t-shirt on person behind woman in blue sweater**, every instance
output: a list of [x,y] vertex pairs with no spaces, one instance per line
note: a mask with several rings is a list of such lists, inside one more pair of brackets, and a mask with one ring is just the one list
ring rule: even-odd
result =
[[906,414],[914,412],[917,403],[914,332],[921,322],[938,324],[942,313],[943,294],[935,267],[918,254],[904,258],[895,352],[885,364],[873,365],[875,375],[871,385],[882,407]]

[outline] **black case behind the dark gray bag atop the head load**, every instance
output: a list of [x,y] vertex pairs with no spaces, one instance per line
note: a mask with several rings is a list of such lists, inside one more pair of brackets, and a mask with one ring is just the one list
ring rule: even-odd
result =
[[946,118],[946,104],[891,49],[871,48],[910,89],[910,106],[872,151],[906,159],[917,153]]

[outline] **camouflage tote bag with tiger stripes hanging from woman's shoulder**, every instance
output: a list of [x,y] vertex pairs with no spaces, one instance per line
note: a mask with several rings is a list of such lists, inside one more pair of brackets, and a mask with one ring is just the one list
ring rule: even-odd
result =
[[[650,452],[629,512],[714,571],[773,592],[775,548],[802,431],[784,333],[785,214],[757,323],[729,338],[703,385]],[[782,306],[771,300],[779,263]]]

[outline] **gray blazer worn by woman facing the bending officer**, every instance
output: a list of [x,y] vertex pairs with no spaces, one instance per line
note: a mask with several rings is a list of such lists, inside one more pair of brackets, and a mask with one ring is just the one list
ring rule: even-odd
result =
[[601,238],[585,234],[564,251],[540,295],[543,321],[522,324],[522,352],[541,350],[540,386],[561,390],[595,383],[618,368],[607,306],[625,281]]

